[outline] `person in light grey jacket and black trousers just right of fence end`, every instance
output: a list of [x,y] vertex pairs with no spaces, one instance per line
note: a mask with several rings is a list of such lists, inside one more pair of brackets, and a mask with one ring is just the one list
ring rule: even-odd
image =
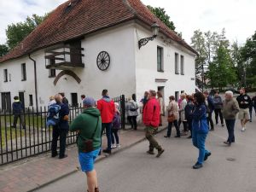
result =
[[128,102],[125,106],[126,113],[127,113],[127,119],[129,123],[131,124],[131,129],[137,130],[137,109],[138,105],[137,102],[134,102],[131,97],[128,98]]

